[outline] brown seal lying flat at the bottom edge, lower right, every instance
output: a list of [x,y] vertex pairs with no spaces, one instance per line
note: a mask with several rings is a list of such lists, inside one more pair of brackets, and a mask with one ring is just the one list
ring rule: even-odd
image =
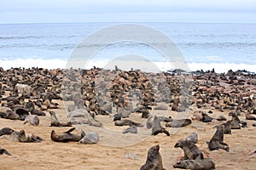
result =
[[191,170],[211,170],[215,169],[215,163],[211,158],[206,158],[202,160],[184,160],[177,161],[174,165],[174,168],[181,169],[191,169]]

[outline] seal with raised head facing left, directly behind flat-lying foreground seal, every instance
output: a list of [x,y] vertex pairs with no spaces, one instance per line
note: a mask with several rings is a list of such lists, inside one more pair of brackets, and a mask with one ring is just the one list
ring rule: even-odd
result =
[[178,140],[175,148],[181,148],[184,152],[183,160],[201,160],[204,159],[201,150],[189,140]]

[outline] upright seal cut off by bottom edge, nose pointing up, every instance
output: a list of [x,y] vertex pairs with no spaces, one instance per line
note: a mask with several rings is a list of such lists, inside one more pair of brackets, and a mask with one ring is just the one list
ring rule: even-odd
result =
[[140,170],[165,170],[162,163],[162,156],[160,155],[159,144],[151,147],[148,150],[148,157],[146,163],[140,168]]

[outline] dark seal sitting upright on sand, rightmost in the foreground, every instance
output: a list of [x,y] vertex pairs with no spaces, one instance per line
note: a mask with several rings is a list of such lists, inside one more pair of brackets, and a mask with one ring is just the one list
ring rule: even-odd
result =
[[210,142],[207,142],[209,150],[226,150],[227,152],[230,151],[229,144],[224,143],[224,126],[219,125],[217,126],[217,130],[212,136]]

